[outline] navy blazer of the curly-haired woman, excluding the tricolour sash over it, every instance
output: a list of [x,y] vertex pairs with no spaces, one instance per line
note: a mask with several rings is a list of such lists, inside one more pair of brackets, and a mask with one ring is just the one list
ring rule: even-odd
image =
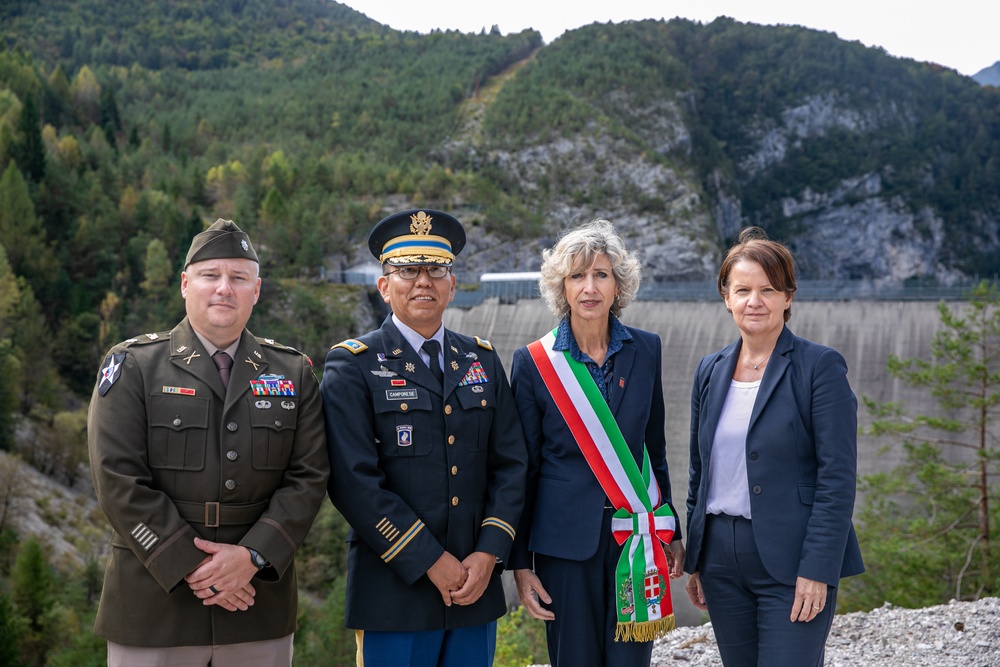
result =
[[[660,493],[669,502],[660,337],[626,328],[632,340],[624,341],[615,354],[609,406],[640,467],[646,444]],[[511,388],[528,446],[528,487],[508,565],[530,569],[532,552],[586,560],[597,552],[607,496],[527,347],[514,352]],[[679,530],[674,539],[679,539]]]

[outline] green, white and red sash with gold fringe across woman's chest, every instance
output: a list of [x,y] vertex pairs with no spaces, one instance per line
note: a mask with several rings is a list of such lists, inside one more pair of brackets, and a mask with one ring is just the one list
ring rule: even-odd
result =
[[587,463],[617,508],[611,530],[625,547],[615,571],[615,641],[652,641],[674,629],[662,543],[670,543],[676,519],[662,502],[646,446],[639,470],[586,365],[568,351],[552,349],[556,331],[528,345],[528,352]]

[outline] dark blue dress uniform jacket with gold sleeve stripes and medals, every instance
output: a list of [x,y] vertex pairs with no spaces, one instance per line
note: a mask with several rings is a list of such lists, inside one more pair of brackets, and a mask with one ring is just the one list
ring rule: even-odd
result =
[[442,355],[443,393],[391,315],[327,355],[330,499],[352,527],[347,627],[452,629],[506,611],[500,564],[468,606],[446,607],[426,576],[445,550],[506,560],[524,501],[524,440],[499,358],[448,330]]

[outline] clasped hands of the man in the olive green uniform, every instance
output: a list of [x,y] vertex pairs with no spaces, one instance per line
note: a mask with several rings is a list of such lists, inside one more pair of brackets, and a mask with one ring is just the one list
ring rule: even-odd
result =
[[[257,567],[246,547],[194,538],[194,545],[208,556],[198,563],[184,581],[205,605],[219,605],[227,611],[246,611],[253,606],[256,589],[250,583]],[[213,590],[214,588],[214,590]]]

